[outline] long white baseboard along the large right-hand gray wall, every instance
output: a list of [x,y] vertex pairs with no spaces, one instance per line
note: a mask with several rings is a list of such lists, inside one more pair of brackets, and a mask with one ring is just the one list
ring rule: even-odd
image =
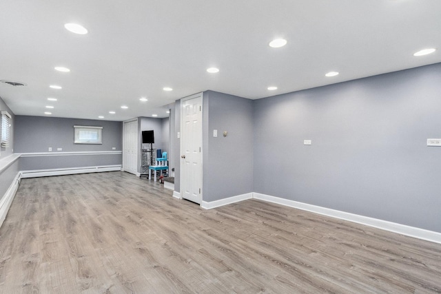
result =
[[276,204],[285,205],[288,207],[294,207],[296,209],[302,209],[313,213],[322,214],[323,216],[330,216],[331,218],[338,218],[340,220],[348,220],[349,222],[356,222],[358,224],[365,224],[369,227],[382,229],[385,231],[391,231],[393,233],[399,233],[401,235],[407,235],[409,237],[418,238],[430,242],[441,244],[441,233],[435,231],[429,231],[416,227],[410,227],[405,224],[398,224],[396,222],[389,222],[387,220],[378,220],[376,218],[369,218],[367,216],[359,216],[353,213],[347,213],[345,211],[338,211],[335,209],[328,209],[325,207],[319,207],[316,205],[297,202],[294,200],[287,200],[284,198],[269,196],[260,193],[253,193],[253,198],[272,202]]

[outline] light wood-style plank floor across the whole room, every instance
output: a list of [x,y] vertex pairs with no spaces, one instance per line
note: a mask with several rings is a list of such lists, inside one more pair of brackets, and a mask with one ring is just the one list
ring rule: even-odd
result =
[[441,244],[171,195],[123,172],[23,179],[0,229],[0,293],[441,293]]

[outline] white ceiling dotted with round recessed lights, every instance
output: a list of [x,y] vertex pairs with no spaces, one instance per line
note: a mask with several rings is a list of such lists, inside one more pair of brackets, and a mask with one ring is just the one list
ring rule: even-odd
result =
[[[438,50],[413,56],[424,48]],[[166,117],[205,90],[256,99],[439,62],[440,0],[0,1],[0,80],[27,84],[0,83],[0,96],[18,115]]]

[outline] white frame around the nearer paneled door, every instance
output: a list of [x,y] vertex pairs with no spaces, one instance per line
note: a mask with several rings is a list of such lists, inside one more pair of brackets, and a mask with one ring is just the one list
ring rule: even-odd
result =
[[199,180],[201,180],[201,203],[199,203],[200,205],[203,202],[203,101],[204,101],[204,94],[203,92],[200,93],[196,93],[184,98],[181,98],[181,124],[180,124],[180,134],[181,134],[181,138],[179,140],[179,145],[180,145],[180,175],[179,175],[179,182],[180,182],[180,194],[181,194],[181,198],[183,198],[184,193],[183,193],[183,183],[184,183],[184,177],[183,177],[183,167],[184,165],[182,164],[182,159],[181,156],[185,153],[184,148],[183,148],[183,137],[185,136],[184,132],[183,132],[183,125],[184,125],[184,102],[194,99],[194,98],[199,98],[201,97],[201,129],[199,130],[199,132],[201,133],[201,178]]

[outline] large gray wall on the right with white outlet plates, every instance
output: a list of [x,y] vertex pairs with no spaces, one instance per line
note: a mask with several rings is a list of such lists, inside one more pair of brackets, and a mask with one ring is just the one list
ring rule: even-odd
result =
[[254,191],[441,232],[440,81],[441,63],[254,101]]

